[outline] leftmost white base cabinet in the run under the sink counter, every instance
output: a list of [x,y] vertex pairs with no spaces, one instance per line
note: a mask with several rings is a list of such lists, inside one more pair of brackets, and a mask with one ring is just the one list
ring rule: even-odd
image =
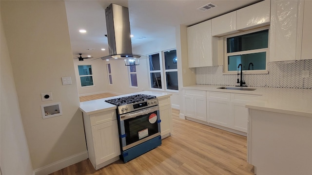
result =
[[207,122],[206,91],[183,90],[184,115],[200,121]]

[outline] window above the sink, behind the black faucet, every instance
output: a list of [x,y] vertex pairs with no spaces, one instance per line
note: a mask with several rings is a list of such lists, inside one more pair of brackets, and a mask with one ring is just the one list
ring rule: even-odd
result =
[[235,72],[239,64],[249,73],[267,72],[269,29],[225,37],[225,72]]

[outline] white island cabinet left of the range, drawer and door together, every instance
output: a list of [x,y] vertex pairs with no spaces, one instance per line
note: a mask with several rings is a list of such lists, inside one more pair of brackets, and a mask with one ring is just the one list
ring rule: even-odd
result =
[[87,114],[83,112],[88,155],[98,170],[119,159],[120,146],[116,109]]

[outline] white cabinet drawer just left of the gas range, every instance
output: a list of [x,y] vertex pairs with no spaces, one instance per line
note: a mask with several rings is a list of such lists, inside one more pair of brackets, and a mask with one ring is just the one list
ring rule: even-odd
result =
[[116,120],[116,110],[109,110],[90,115],[91,126]]

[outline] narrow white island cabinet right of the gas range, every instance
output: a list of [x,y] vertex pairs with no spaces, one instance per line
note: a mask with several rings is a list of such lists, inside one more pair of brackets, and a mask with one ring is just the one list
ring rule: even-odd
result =
[[159,117],[160,117],[160,131],[161,139],[170,136],[172,133],[172,113],[170,97],[157,97],[159,102]]

